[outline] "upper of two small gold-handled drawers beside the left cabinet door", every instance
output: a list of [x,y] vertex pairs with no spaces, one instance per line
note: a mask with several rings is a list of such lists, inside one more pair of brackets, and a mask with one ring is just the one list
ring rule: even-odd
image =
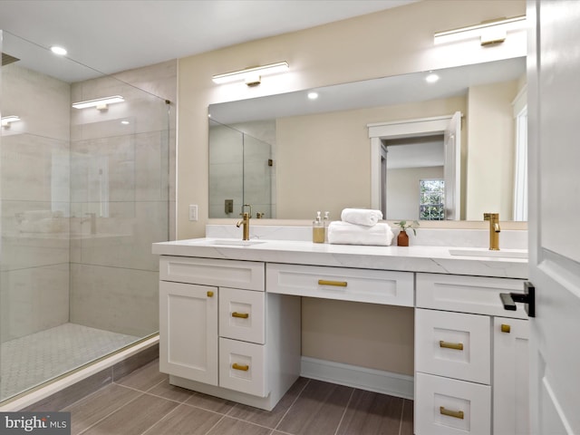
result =
[[266,343],[264,292],[221,287],[219,336],[245,342]]

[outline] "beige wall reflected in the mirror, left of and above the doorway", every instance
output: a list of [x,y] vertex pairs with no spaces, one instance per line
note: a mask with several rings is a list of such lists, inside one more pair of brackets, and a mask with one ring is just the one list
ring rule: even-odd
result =
[[328,210],[338,219],[343,208],[370,208],[367,124],[451,115],[466,108],[465,98],[456,97],[278,119],[278,217],[314,218],[317,210]]

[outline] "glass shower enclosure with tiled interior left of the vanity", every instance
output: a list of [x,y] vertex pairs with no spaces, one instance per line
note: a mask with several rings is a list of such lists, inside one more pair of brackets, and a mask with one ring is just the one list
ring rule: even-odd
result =
[[174,128],[159,96],[1,36],[0,402],[158,332]]

